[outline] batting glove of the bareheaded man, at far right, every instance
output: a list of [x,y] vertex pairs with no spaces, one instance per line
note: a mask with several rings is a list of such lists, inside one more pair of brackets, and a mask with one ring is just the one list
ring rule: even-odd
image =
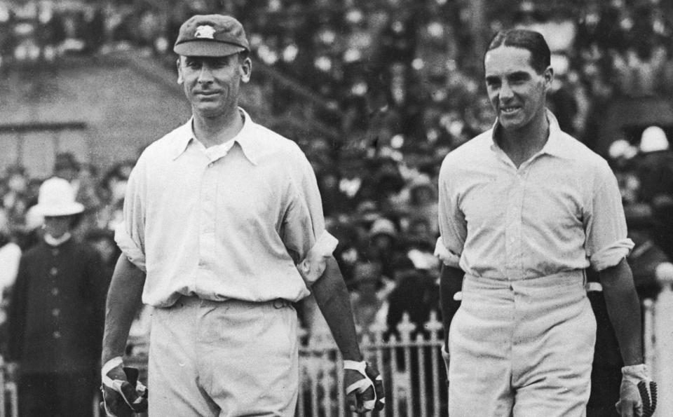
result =
[[620,416],[652,416],[657,408],[657,383],[647,376],[644,364],[622,368],[622,385],[615,406]]

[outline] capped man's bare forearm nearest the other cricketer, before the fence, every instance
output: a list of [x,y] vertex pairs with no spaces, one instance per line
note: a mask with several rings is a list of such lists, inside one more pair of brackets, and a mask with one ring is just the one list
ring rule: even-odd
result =
[[351,297],[348,295],[344,277],[334,257],[327,259],[325,273],[313,283],[311,289],[344,359],[362,360],[353,322]]

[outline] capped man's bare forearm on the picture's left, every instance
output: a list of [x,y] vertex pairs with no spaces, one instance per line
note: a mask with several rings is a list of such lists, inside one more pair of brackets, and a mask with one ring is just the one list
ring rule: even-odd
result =
[[123,356],[128,331],[142,303],[144,283],[145,273],[122,254],[117,260],[107,292],[101,355],[103,364],[113,357]]

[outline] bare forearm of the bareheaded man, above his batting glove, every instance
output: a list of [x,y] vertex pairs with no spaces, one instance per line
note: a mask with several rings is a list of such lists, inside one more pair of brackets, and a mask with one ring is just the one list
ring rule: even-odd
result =
[[643,363],[640,301],[626,259],[599,272],[610,322],[625,365]]

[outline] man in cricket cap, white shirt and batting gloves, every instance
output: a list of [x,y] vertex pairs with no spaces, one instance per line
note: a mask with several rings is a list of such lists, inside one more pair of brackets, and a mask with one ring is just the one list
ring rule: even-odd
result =
[[383,408],[311,164],[238,107],[252,69],[242,25],[193,16],[173,50],[193,115],[148,146],[128,181],[103,337],[107,413],[148,407],[122,359],[142,301],[154,306],[150,416],[294,416],[294,303],[311,293],[344,357],[349,406]]

